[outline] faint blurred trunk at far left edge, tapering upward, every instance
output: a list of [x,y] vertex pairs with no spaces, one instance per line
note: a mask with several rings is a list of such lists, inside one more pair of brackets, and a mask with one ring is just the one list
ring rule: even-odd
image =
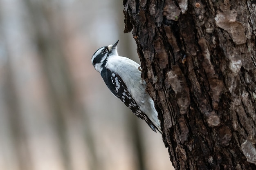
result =
[[[13,82],[9,61],[6,68],[6,84],[4,86],[5,106],[7,106],[7,121],[11,132],[11,144],[14,146],[13,156],[18,160],[20,170],[31,170],[31,157],[27,146],[27,133],[24,128],[24,121],[20,115],[19,103],[16,96],[16,88]],[[4,113],[3,113],[4,114]],[[14,163],[14,162],[13,162]]]

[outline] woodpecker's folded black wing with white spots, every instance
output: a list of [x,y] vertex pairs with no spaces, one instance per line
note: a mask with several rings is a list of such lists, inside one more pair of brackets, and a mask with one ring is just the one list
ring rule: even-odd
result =
[[155,127],[155,125],[148,118],[148,116],[140,110],[139,106],[128,92],[127,86],[123,82],[121,77],[117,73],[113,73],[108,69],[101,71],[101,77],[103,78],[110,91],[117,98],[119,98],[130,110],[132,110],[132,112],[137,117],[145,120],[148,126],[150,126],[150,128],[156,132],[155,128],[157,127]]

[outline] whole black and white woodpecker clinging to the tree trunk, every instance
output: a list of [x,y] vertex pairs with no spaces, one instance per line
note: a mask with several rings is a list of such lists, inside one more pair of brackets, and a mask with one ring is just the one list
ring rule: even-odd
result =
[[161,134],[160,121],[153,99],[146,91],[146,82],[141,79],[140,65],[117,53],[117,42],[103,46],[92,55],[92,65],[101,74],[109,90],[146,121],[152,130]]

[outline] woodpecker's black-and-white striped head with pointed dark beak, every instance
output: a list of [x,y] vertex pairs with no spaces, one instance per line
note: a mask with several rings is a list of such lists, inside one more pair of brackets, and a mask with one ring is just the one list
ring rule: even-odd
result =
[[99,73],[101,73],[103,66],[105,66],[108,57],[118,55],[118,41],[119,40],[117,40],[114,44],[110,44],[109,46],[101,47],[92,55],[92,65]]

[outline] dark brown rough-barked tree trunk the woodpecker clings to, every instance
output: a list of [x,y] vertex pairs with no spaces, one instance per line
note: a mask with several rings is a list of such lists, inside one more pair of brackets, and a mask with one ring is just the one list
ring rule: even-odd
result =
[[176,170],[256,170],[256,1],[124,0]]

